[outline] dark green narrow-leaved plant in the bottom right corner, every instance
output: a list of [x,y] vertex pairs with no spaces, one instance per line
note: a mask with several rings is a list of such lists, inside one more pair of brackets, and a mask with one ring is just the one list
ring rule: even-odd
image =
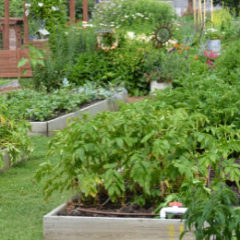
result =
[[191,195],[187,196],[191,200],[182,237],[192,231],[196,240],[240,238],[240,209],[235,207],[238,204],[236,193],[223,183],[205,193],[196,191],[196,188],[189,193]]

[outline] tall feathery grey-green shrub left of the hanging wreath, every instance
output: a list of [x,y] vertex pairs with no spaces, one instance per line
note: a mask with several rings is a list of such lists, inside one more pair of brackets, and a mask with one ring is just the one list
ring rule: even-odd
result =
[[80,26],[59,28],[50,39],[51,53],[47,54],[44,64],[34,67],[34,84],[38,88],[51,91],[61,87],[70,73],[66,65],[72,66],[77,56],[91,54],[96,47],[94,29],[82,29]]

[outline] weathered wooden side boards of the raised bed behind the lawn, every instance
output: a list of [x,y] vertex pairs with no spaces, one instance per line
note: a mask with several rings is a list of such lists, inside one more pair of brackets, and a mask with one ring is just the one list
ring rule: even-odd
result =
[[67,126],[69,118],[79,117],[82,114],[90,114],[95,116],[99,112],[103,111],[117,111],[118,102],[127,102],[127,92],[120,92],[103,101],[99,101],[87,107],[80,109],[79,111],[63,115],[61,117],[45,121],[45,122],[30,122],[32,130],[30,135],[46,135],[51,136],[55,130],[62,130]]

